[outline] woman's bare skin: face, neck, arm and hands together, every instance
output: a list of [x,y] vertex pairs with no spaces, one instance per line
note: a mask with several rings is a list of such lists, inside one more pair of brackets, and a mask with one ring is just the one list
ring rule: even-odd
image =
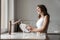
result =
[[41,12],[41,9],[40,9],[39,7],[36,8],[36,11],[37,11],[38,15],[41,15],[41,17],[45,17],[45,18],[44,18],[43,25],[42,25],[42,27],[39,28],[39,29],[37,29],[37,28],[29,25],[29,26],[27,27],[27,29],[28,29],[30,32],[40,32],[40,33],[41,33],[41,32],[44,32],[44,30],[47,28],[47,25],[48,25],[48,23],[49,23],[49,16],[48,16],[48,15],[44,16],[44,13]]

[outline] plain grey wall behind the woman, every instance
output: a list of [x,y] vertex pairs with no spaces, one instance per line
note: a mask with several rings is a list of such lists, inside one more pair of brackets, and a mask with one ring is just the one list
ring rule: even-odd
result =
[[60,0],[16,0],[15,19],[23,18],[24,23],[35,26],[37,18],[36,6],[46,5],[50,14],[48,32],[60,32]]

